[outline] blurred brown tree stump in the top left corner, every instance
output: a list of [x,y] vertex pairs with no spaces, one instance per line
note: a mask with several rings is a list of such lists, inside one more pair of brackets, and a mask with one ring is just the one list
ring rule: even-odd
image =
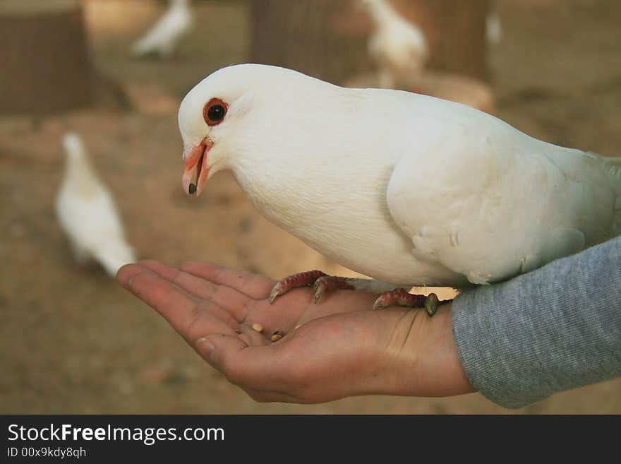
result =
[[0,2],[0,113],[51,114],[95,99],[78,0]]

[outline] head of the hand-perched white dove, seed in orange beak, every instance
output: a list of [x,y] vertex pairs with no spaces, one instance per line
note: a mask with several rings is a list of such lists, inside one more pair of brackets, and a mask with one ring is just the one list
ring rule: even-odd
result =
[[287,98],[316,81],[296,71],[259,64],[219,69],[190,90],[179,107],[183,190],[200,195],[205,182],[234,168],[249,150],[270,145],[287,119]]

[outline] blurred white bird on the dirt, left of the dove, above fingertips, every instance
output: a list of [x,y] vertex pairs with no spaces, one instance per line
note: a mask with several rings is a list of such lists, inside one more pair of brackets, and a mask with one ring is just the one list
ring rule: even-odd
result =
[[98,261],[114,277],[116,270],[135,263],[114,200],[92,169],[76,133],[63,138],[66,168],[56,196],[56,218],[66,233],[76,262]]

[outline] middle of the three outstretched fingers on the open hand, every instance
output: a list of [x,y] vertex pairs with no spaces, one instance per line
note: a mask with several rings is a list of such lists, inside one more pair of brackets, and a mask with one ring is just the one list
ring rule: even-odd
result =
[[157,261],[140,261],[140,264],[170,280],[191,295],[200,299],[212,300],[219,307],[229,311],[236,321],[242,322],[246,319],[247,305],[250,301],[247,295],[231,287],[217,285],[209,280],[188,274],[177,268],[171,268]]

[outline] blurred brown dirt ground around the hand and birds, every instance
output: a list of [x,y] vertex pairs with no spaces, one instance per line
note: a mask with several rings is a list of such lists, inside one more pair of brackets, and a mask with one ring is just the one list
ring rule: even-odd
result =
[[[248,3],[198,4],[199,27],[164,62],[127,56],[161,3],[85,4],[97,68],[126,88],[135,110],[0,119],[1,413],[512,412],[478,394],[255,403],[100,268],[77,269],[53,211],[67,129],[85,139],[141,257],[215,261],[272,278],[343,272],[260,217],[230,175],[212,179],[198,201],[179,187],[176,109],[207,73],[246,60]],[[490,59],[499,116],[546,141],[619,155],[621,2],[502,0],[498,9],[505,37]],[[621,379],[516,412],[620,413]]]

